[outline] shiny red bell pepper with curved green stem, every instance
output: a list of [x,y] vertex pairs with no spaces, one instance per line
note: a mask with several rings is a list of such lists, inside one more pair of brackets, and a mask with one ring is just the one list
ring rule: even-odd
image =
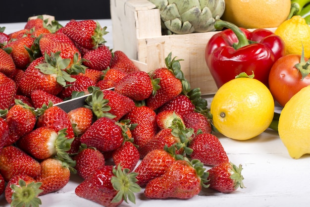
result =
[[219,88],[241,72],[254,78],[268,87],[268,76],[271,66],[285,55],[283,40],[266,29],[253,32],[236,25],[216,20],[214,27],[218,30],[208,41],[205,58],[209,71]]

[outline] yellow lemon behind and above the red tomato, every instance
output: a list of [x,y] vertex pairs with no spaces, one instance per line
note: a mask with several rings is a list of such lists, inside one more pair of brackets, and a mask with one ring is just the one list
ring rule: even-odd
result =
[[302,54],[310,57],[310,27],[301,16],[293,16],[284,21],[274,32],[285,43],[286,54]]

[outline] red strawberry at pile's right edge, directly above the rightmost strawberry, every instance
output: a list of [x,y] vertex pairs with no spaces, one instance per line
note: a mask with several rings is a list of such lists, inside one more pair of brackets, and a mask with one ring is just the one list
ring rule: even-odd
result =
[[190,143],[189,148],[193,150],[190,157],[199,159],[207,165],[217,165],[228,162],[228,156],[215,135],[199,134]]

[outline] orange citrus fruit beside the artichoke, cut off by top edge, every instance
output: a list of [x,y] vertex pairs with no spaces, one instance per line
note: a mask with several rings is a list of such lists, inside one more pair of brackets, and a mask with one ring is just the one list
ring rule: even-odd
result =
[[285,21],[290,9],[290,0],[225,0],[221,19],[244,28],[271,28]]

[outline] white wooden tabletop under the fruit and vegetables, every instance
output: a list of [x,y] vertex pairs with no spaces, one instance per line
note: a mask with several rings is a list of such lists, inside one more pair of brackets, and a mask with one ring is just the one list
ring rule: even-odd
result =
[[[107,26],[105,36],[107,46],[112,45],[110,20],[99,20]],[[65,25],[66,21],[60,21]],[[22,29],[25,23],[0,24],[5,32]],[[208,97],[211,101],[212,97]],[[279,109],[279,108],[278,108]],[[278,134],[267,129],[256,138],[236,141],[215,134],[222,143],[230,161],[243,165],[245,189],[238,189],[231,194],[222,194],[211,189],[189,200],[150,200],[143,191],[136,195],[136,205],[122,203],[120,207],[308,207],[310,204],[310,155],[300,159],[289,156]],[[294,136],[294,135],[292,135]],[[208,169],[209,167],[206,166]],[[101,207],[100,205],[79,198],[74,194],[75,187],[82,181],[76,175],[70,182],[55,193],[41,196],[42,207]],[[9,207],[4,196],[0,196],[0,207]]]

